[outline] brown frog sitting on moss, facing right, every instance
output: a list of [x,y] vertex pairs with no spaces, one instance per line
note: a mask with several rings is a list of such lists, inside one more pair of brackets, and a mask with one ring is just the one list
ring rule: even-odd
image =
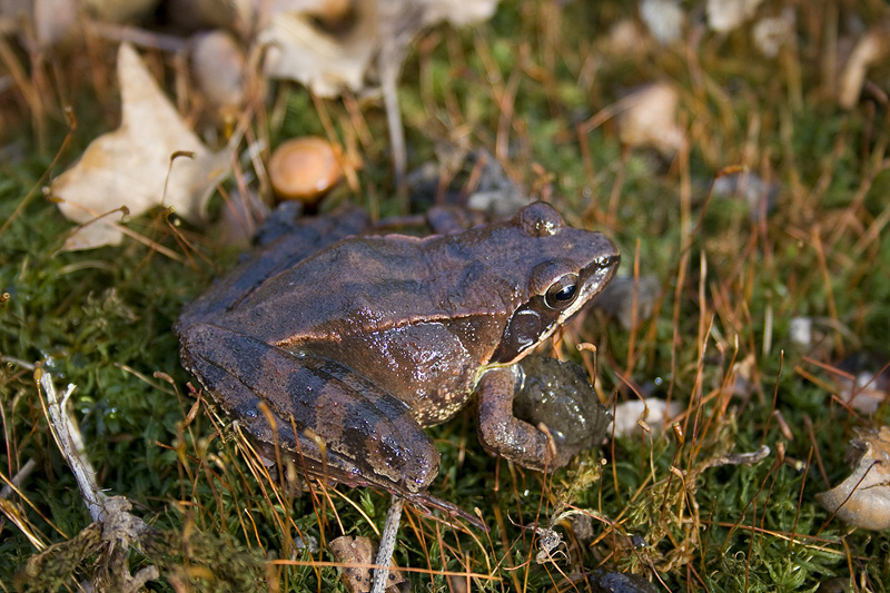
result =
[[514,416],[518,363],[613,278],[605,235],[543,201],[425,237],[368,231],[360,211],[271,226],[175,324],[182,366],[255,441],[309,476],[465,518],[427,492],[441,457],[425,428],[471,403],[490,454],[568,463],[576,449]]

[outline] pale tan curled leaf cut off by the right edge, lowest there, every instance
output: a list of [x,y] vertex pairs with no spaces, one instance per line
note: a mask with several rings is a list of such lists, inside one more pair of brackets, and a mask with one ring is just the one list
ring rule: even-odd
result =
[[863,530],[890,528],[890,427],[861,431],[850,441],[853,473],[815,500],[834,516]]

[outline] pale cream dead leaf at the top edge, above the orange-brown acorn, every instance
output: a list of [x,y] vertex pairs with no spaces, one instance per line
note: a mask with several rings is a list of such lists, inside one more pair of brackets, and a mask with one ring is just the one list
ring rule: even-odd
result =
[[496,6],[497,0],[356,2],[355,22],[339,34],[319,28],[308,13],[276,12],[258,38],[267,48],[264,69],[271,78],[301,82],[319,97],[357,91],[387,41],[411,39],[442,20],[457,26],[485,20]]

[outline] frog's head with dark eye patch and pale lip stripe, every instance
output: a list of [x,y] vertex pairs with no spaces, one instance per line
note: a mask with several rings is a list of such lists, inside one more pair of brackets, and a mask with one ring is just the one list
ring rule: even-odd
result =
[[605,235],[572,228],[547,204],[520,210],[507,224],[514,235],[502,250],[518,288],[491,363],[512,364],[565,324],[615,275],[619,248]]

